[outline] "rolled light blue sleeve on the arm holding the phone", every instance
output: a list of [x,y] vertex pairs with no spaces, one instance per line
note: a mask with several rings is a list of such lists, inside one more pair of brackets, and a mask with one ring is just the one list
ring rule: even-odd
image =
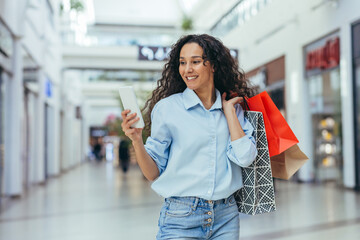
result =
[[145,150],[155,161],[159,175],[167,165],[171,145],[170,132],[166,126],[164,116],[158,105],[155,105],[151,112],[151,136],[146,140]]

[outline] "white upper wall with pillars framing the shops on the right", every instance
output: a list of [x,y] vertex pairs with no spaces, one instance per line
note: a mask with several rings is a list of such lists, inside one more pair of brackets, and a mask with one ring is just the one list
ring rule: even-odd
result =
[[[337,7],[322,0],[274,0],[245,25],[223,37],[227,46],[239,49],[240,65],[246,71],[285,55],[287,120],[300,140],[300,147],[312,159],[308,86],[302,51],[305,45],[339,30],[346,187],[355,184],[350,26],[360,19],[359,9],[357,0],[338,1]],[[302,180],[312,179],[312,164],[309,161],[301,169]]]

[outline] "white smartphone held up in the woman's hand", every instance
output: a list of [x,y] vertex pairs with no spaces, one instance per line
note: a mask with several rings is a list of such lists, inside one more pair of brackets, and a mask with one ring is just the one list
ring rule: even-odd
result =
[[131,125],[131,127],[144,128],[145,124],[141,115],[139,105],[137,104],[134,88],[132,86],[120,87],[119,94],[121,102],[124,106],[124,110],[129,109],[129,114],[136,113],[136,116],[140,118],[140,120]]

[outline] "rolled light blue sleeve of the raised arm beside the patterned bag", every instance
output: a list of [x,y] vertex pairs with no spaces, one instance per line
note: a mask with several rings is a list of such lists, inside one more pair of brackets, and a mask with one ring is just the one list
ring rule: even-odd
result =
[[253,137],[254,128],[244,117],[244,111],[239,104],[236,105],[236,114],[245,136],[231,141],[227,148],[228,158],[241,167],[247,167],[253,163],[257,155],[256,143]]

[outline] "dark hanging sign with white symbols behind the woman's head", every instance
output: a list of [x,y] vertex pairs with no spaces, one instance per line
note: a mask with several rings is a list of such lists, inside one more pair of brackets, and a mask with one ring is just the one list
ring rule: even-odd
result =
[[[138,60],[141,61],[166,61],[169,59],[171,47],[139,46]],[[237,59],[237,49],[230,49],[230,54]]]

